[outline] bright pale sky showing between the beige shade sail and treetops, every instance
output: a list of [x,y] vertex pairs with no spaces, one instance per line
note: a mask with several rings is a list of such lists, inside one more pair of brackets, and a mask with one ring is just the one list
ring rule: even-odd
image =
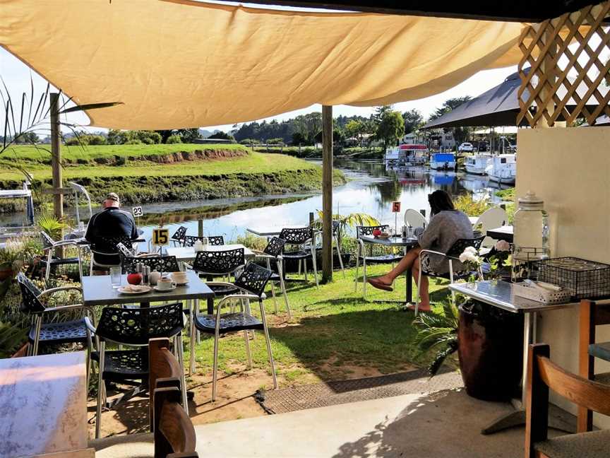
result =
[[[395,110],[399,110],[400,112],[405,112],[407,110],[417,109],[423,114],[424,119],[426,119],[429,114],[431,114],[437,107],[441,107],[443,102],[449,98],[461,97],[464,95],[470,95],[472,97],[477,96],[481,93],[484,93],[486,90],[493,88],[494,86],[500,84],[506,76],[513,74],[517,71],[516,66],[506,67],[503,69],[494,69],[494,70],[485,70],[480,71],[478,74],[472,76],[471,78],[463,81],[458,86],[451,88],[443,93],[439,93],[433,95],[428,98],[423,98],[420,100],[411,100],[409,102],[400,102],[394,105]],[[0,76],[4,80],[4,84],[6,88],[8,88],[9,93],[11,94],[11,98],[13,99],[13,103],[17,102],[17,105],[20,106],[20,100],[22,94],[25,92],[30,94],[30,75],[34,81],[34,93],[35,98],[36,94],[40,97],[40,94],[47,87],[47,81],[42,78],[42,76],[38,75],[30,69],[28,66],[23,64],[19,59],[13,56],[10,52],[6,51],[6,49],[0,47]],[[69,94],[68,94],[69,95]],[[289,119],[299,114],[305,114],[313,111],[321,111],[321,105],[311,105],[311,107],[304,107],[301,110],[296,110],[292,112],[286,112],[282,114],[277,114],[273,117],[265,118],[268,122],[272,119],[276,119],[277,121],[282,121],[285,119]],[[1,125],[4,126],[4,112],[0,110],[0,122]],[[349,105],[335,105],[333,107],[333,116],[337,117],[339,115],[344,116],[353,116],[360,115],[364,117],[369,117],[371,113],[373,113],[374,107],[352,107]],[[68,122],[73,122],[80,126],[87,126],[89,124],[88,117],[85,114],[71,114],[68,117]],[[261,122],[263,119],[252,119],[251,121]],[[180,128],[183,126],[176,126],[176,128]],[[222,131],[230,131],[233,128],[232,124],[225,124],[221,126],[201,126],[203,129],[214,130],[220,129]],[[101,129],[100,127],[88,127],[86,130],[89,131],[105,131],[106,129]]]

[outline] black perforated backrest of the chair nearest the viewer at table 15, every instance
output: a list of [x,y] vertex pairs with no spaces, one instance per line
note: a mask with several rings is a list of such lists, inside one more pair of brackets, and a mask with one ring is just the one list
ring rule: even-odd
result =
[[95,334],[104,341],[147,345],[150,339],[175,336],[183,327],[181,303],[137,309],[105,307]]

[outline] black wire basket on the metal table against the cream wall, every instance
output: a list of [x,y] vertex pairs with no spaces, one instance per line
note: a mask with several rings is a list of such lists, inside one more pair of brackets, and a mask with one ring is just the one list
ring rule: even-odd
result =
[[532,262],[532,276],[570,291],[575,299],[610,296],[610,265],[577,257]]

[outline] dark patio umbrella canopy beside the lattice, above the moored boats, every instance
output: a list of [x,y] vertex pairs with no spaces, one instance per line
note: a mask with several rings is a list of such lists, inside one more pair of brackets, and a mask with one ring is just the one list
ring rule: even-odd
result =
[[[529,69],[526,69],[526,71]],[[519,114],[518,90],[521,78],[518,72],[508,76],[503,83],[462,103],[443,116],[428,122],[422,129],[465,126],[515,126]],[[525,100],[529,95],[525,94]],[[527,121],[524,119],[522,125]]]

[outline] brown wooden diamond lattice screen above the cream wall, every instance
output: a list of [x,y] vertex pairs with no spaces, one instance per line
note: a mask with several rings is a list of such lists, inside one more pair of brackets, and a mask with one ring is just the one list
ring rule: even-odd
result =
[[[525,28],[517,124],[610,116],[610,0]],[[527,71],[527,67],[531,67]],[[525,70],[525,71],[524,71]]]

